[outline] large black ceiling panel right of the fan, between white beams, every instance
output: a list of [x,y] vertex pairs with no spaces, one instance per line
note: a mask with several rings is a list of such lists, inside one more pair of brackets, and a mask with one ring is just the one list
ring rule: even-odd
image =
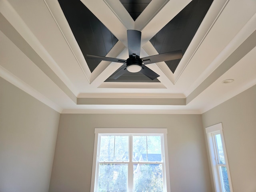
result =
[[[159,54],[175,50],[185,53],[213,0],[192,0],[150,42]],[[174,73],[180,59],[167,61]]]

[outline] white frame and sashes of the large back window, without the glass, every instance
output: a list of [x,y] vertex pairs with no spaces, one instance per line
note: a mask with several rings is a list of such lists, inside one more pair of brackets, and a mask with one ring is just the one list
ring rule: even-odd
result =
[[[109,132],[106,132],[108,130]],[[116,134],[116,130],[118,134]],[[145,132],[146,133],[142,133]],[[115,128],[98,128],[95,129],[95,142],[94,142],[94,161],[93,161],[93,170],[92,170],[92,183],[91,183],[91,192],[96,191],[98,187],[98,172],[100,164],[128,164],[128,191],[133,191],[133,167],[135,164],[160,164],[162,166],[162,176],[163,176],[163,191],[170,191],[170,176],[168,169],[168,154],[167,154],[167,145],[166,145],[166,129],[115,129]],[[100,162],[97,157],[99,157],[99,147],[100,147],[100,136],[106,135],[115,135],[115,136],[129,136],[128,142],[128,153],[129,160],[124,162],[118,161],[104,161]],[[149,161],[132,161],[132,138],[133,136],[160,136],[161,138],[161,162],[149,162]],[[97,139],[96,139],[97,138]],[[96,153],[95,153],[96,147]],[[96,154],[96,155],[95,155]],[[96,162],[97,159],[97,162]]]

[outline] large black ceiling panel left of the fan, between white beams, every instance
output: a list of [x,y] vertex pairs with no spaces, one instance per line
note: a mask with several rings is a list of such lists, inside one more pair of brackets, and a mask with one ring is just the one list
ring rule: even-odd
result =
[[[80,0],[58,2],[84,57],[87,54],[106,56],[118,39]],[[92,72],[100,60],[86,59],[86,62]]]

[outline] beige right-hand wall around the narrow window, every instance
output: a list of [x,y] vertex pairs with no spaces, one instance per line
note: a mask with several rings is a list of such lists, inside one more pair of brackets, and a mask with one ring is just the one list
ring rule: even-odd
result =
[[222,122],[233,191],[255,192],[256,86],[205,112],[202,122]]

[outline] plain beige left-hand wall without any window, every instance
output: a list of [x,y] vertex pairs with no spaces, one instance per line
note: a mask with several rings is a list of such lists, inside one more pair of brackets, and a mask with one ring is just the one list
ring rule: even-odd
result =
[[48,192],[59,118],[0,78],[0,192]]

